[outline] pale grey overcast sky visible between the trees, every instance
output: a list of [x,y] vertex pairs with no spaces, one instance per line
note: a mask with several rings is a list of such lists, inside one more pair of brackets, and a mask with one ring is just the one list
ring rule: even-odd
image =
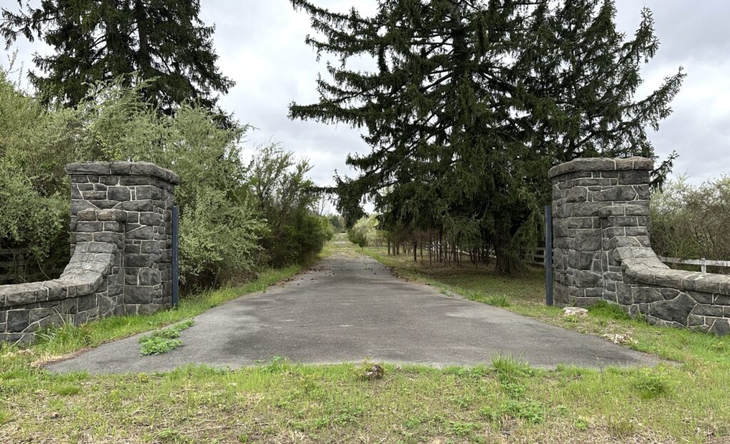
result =
[[[8,0],[0,0],[3,4]],[[372,12],[375,0],[314,0],[336,11],[355,4]],[[257,129],[249,134],[247,153],[256,143],[274,139],[309,158],[312,178],[332,182],[335,169],[348,173],[347,153],[366,152],[358,131],[350,127],[289,120],[288,104],[315,102],[317,63],[304,45],[309,18],[295,12],[288,0],[201,0],[201,19],[215,23],[215,48],[220,69],[237,85],[220,104],[243,123]],[[661,39],[657,56],[645,66],[645,85],[656,88],[664,77],[684,66],[688,77],[672,104],[675,112],[651,134],[657,153],[680,153],[675,174],[686,173],[702,182],[730,172],[730,1],[726,0],[617,0],[619,28],[631,36],[640,9],[649,7]],[[19,42],[19,58],[31,66],[37,46]],[[5,58],[2,63],[6,64]],[[6,64],[7,65],[7,64]],[[352,174],[352,172],[349,172]]]

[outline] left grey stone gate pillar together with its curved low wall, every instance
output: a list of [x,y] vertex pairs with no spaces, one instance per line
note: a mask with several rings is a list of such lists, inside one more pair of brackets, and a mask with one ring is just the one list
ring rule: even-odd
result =
[[58,279],[0,286],[0,340],[171,304],[177,175],[146,162],[69,164],[66,173],[72,258]]

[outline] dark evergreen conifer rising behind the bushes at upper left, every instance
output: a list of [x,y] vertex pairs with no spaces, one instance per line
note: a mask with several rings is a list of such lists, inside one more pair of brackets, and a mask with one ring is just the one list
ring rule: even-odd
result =
[[37,7],[18,0],[18,7],[2,8],[0,34],[6,47],[23,36],[53,48],[34,56],[41,73],[30,74],[46,102],[79,104],[95,83],[124,75],[126,85],[148,80],[145,99],[166,112],[191,99],[212,110],[214,94],[234,85],[215,66],[215,29],[199,19],[198,0],[40,0]]

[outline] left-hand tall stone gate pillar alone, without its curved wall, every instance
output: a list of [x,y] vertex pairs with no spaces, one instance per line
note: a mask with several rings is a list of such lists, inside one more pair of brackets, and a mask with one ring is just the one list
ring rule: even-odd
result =
[[[110,294],[121,295],[114,314],[169,307],[177,175],[147,162],[69,164],[66,173],[71,177],[72,251],[78,242],[116,242],[122,252],[119,273],[112,269],[110,280]],[[118,210],[123,222],[98,221],[99,210]],[[107,228],[123,228],[123,237]]]

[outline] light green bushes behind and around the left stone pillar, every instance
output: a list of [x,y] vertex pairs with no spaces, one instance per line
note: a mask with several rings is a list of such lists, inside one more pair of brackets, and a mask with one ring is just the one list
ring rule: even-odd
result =
[[0,72],[0,246],[30,248],[37,261],[69,255],[73,161],[151,161],[180,176],[180,279],[217,286],[262,264],[293,264],[331,237],[306,161],[278,145],[241,160],[248,126],[223,128],[218,115],[183,104],[161,115],[140,89],[100,83],[77,107],[45,110]]

